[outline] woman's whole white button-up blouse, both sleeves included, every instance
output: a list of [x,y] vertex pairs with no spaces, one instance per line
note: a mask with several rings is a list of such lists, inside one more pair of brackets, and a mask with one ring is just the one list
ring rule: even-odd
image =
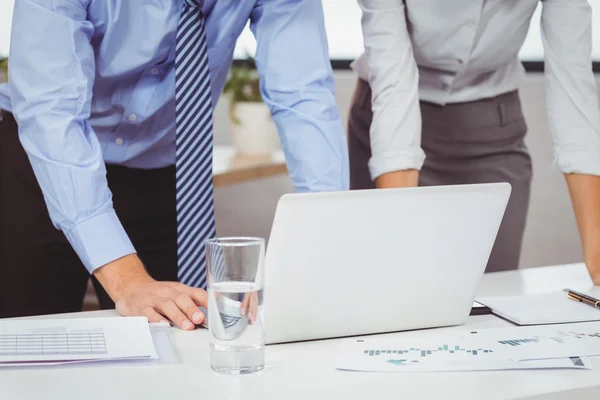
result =
[[[591,67],[586,0],[541,0],[546,103],[563,173],[600,175],[600,109]],[[515,90],[518,53],[538,0],[358,0],[365,54],[355,63],[371,84],[373,179],[420,169],[419,99],[446,104]]]

